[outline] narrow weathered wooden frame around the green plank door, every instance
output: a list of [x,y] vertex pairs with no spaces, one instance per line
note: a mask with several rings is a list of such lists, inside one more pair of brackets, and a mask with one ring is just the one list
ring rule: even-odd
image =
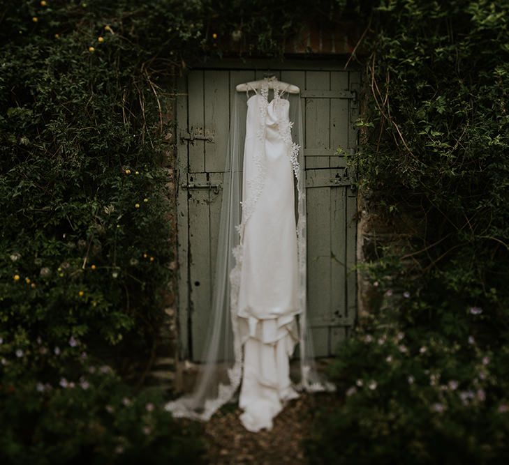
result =
[[[302,71],[342,71],[357,72],[360,79],[360,67],[349,65],[345,69],[346,59],[338,56],[289,56],[284,61],[276,59],[207,59],[196,66],[190,67],[193,70],[302,70]],[[188,74],[177,77],[176,80],[176,101],[175,101],[175,136],[177,144],[177,170],[175,173],[176,197],[177,197],[177,358],[179,360],[189,360],[189,348],[191,346],[190,325],[190,283],[189,283],[189,211],[188,211],[188,191],[182,187],[187,183],[187,173],[189,169],[188,146],[181,143],[181,132],[188,127]],[[358,135],[353,128],[353,120],[358,116],[358,93],[360,90],[360,80],[351,86],[351,91],[355,92],[355,102],[357,106],[351,112],[348,131],[351,132],[352,140],[355,139],[355,145],[358,144]],[[353,174],[355,176],[355,174]],[[183,221],[185,220],[185,221]],[[354,259],[357,255],[357,241],[353,241],[355,251]],[[349,289],[348,294],[354,296],[355,308],[357,308],[357,287],[358,277],[355,279],[355,288]],[[350,294],[351,292],[351,294]]]

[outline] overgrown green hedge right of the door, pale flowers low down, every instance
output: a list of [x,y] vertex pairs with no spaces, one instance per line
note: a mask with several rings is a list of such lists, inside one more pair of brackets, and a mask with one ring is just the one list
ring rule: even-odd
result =
[[344,399],[317,416],[313,463],[509,457],[508,17],[508,2],[393,0],[366,18],[350,163],[367,211],[411,237],[360,264],[375,311],[332,367]]

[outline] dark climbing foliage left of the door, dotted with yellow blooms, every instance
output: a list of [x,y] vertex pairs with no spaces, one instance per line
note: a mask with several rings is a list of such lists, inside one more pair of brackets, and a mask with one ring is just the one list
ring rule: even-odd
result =
[[109,366],[142,381],[175,268],[172,78],[232,34],[279,55],[343,8],[308,6],[1,2],[0,462],[196,461],[162,399]]

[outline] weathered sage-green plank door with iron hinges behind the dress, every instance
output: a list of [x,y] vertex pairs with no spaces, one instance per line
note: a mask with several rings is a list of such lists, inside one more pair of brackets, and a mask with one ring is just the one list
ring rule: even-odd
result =
[[[199,361],[212,301],[221,184],[235,86],[270,71],[301,89],[307,175],[309,319],[316,356],[330,356],[356,315],[356,193],[339,146],[357,144],[358,71],[313,61],[192,70],[177,95],[180,356]],[[241,115],[245,119],[244,114]],[[242,127],[242,125],[240,125]],[[245,128],[243,128],[245,130]]]

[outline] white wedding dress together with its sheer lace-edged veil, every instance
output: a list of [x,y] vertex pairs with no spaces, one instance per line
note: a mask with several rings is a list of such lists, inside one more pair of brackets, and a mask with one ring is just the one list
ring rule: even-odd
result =
[[[165,406],[176,417],[209,420],[238,394],[240,420],[253,432],[271,429],[297,391],[334,389],[318,375],[307,330],[300,96],[283,97],[277,84],[265,78],[246,100],[235,94],[205,363],[193,392]],[[293,381],[297,343],[300,379]]]

